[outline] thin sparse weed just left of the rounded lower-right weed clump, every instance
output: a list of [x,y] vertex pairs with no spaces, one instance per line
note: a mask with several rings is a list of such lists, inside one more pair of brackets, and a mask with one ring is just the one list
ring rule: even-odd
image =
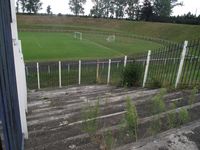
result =
[[[171,109],[174,110],[176,108],[176,104],[172,103]],[[168,126],[169,128],[174,128],[177,126],[177,120],[176,120],[176,112],[170,112],[167,115],[168,120]]]

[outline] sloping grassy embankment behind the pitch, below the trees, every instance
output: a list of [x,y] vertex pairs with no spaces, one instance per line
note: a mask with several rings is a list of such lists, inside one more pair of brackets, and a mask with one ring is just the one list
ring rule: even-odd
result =
[[65,30],[114,31],[182,42],[199,38],[199,25],[135,22],[72,16],[18,15],[18,28],[45,28]]

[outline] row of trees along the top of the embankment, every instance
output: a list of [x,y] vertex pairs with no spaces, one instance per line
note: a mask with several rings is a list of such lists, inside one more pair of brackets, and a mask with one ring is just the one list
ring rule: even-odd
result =
[[[186,24],[200,24],[200,16],[188,13],[183,16],[171,17],[172,10],[183,3],[178,0],[91,0],[93,7],[89,16],[96,18],[127,18],[129,20],[143,20],[156,22],[172,22]],[[71,12],[78,16],[84,15],[86,0],[69,0]],[[42,9],[40,0],[17,0],[17,12],[37,14]],[[52,14],[48,6],[47,14]]]

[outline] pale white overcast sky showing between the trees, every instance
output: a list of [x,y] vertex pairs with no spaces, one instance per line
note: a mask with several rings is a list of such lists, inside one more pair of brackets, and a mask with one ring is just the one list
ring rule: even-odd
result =
[[[62,13],[62,14],[72,14],[68,3],[69,0],[41,0],[43,2],[43,10],[41,13],[46,13],[46,8],[48,5],[51,6],[52,11],[54,14]],[[173,10],[173,15],[183,15],[188,12],[193,14],[200,14],[200,0],[179,0],[182,1],[184,6],[177,6]],[[91,0],[87,0],[87,3],[84,5],[85,8],[85,15],[90,13],[90,9],[92,8],[93,4]]]

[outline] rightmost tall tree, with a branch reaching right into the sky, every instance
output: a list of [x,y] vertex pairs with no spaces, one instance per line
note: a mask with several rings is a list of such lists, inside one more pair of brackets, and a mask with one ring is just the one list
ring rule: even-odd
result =
[[154,13],[156,16],[169,17],[174,7],[182,5],[183,3],[178,2],[178,0],[155,0]]

